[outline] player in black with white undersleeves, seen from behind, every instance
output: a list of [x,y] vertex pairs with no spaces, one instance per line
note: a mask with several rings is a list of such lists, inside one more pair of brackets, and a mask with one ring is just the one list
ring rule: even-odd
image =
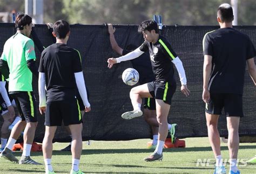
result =
[[[79,170],[82,152],[82,115],[76,99],[76,85],[84,103],[84,111],[90,112],[87,99],[81,58],[77,50],[66,45],[69,35],[69,23],[58,20],[53,25],[53,36],[56,44],[45,48],[39,65],[39,110],[45,113],[45,135],[43,155],[46,173],[54,173],[51,165],[52,140],[57,126],[64,122],[69,126],[72,135],[72,169],[70,173],[83,173]],[[45,85],[47,103],[45,96]]]

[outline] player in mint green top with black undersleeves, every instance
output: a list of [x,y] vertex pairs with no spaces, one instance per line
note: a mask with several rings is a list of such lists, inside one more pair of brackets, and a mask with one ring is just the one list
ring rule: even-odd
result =
[[[19,164],[40,164],[30,158],[32,142],[37,127],[35,97],[32,91],[32,74],[38,76],[35,65],[36,54],[33,41],[29,38],[32,30],[32,18],[20,14],[16,18],[16,34],[4,44],[0,59],[0,69],[5,79],[9,78],[9,94],[15,99],[22,121],[19,121],[11,131],[10,138],[1,157],[18,162],[12,154],[12,147],[24,130],[24,150]],[[10,72],[10,74],[9,74]]]

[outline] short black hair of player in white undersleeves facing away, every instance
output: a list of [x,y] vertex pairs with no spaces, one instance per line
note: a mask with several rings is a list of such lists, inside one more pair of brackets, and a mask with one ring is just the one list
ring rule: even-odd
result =
[[58,39],[65,39],[66,34],[70,31],[69,23],[65,20],[58,20],[53,24],[53,32]]

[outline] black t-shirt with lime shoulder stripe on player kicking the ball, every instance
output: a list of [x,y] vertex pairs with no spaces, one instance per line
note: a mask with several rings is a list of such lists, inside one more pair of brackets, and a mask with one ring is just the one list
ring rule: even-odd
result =
[[159,36],[158,41],[154,44],[145,40],[139,48],[143,52],[150,51],[151,65],[153,73],[156,75],[156,82],[173,81],[174,69],[172,60],[177,55],[163,36]]

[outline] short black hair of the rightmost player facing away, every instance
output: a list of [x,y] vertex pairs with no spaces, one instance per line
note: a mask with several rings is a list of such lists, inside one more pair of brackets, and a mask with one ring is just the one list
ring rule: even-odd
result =
[[227,3],[221,4],[218,8],[217,16],[222,22],[232,22],[234,19],[232,6]]

